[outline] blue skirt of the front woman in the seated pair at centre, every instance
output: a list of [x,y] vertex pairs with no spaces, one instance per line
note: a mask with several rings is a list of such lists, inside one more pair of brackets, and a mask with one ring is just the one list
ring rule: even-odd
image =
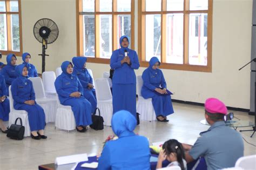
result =
[[83,97],[71,98],[64,101],[63,105],[71,106],[77,126],[92,124],[92,106],[87,99]]

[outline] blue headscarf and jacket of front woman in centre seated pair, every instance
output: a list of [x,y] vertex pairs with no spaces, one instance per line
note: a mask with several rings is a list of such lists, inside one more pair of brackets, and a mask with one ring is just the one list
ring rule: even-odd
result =
[[73,98],[70,97],[70,94],[73,92],[80,92],[83,96],[83,86],[77,76],[73,76],[73,74],[66,72],[66,68],[69,64],[72,65],[72,63],[68,61],[62,63],[62,74],[56,78],[54,83],[61,104],[63,104],[64,101]]

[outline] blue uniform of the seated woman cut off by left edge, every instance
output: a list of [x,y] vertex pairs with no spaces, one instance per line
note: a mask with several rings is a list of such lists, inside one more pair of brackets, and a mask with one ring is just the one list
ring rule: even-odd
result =
[[[0,97],[7,95],[7,88],[5,84],[4,77],[0,75]],[[9,113],[10,113],[10,101],[6,97],[3,102],[0,103],[0,119],[3,121],[9,120]]]

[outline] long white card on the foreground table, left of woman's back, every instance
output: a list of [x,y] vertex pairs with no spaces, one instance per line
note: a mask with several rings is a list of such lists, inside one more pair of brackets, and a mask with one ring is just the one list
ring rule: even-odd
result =
[[56,165],[65,165],[71,164],[76,162],[88,161],[87,154],[76,154],[76,155],[69,155],[65,157],[57,157],[55,160]]

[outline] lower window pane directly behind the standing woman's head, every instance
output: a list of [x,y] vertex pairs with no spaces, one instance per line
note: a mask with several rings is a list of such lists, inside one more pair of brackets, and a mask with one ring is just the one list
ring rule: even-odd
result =
[[120,48],[119,39],[122,36],[129,36],[130,37],[130,44],[131,44],[131,15],[118,15],[118,23],[117,23],[117,44],[118,48]]

